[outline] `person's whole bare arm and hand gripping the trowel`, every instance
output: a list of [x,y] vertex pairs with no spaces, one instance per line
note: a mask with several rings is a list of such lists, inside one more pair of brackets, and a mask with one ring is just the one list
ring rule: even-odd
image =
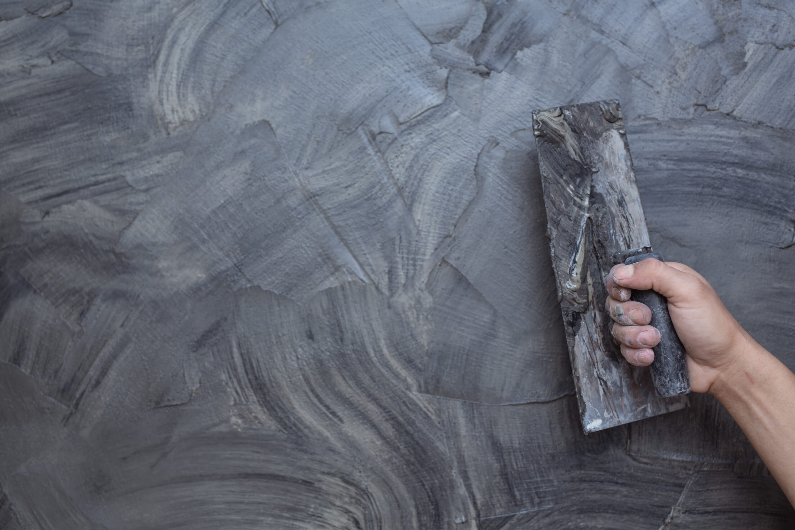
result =
[[651,311],[630,301],[630,289],[668,298],[673,327],[687,350],[690,387],[719,400],[795,506],[795,375],[759,346],[723,306],[715,289],[681,263],[646,258],[615,265],[607,275],[607,311],[621,353],[635,366],[653,361],[660,340]]

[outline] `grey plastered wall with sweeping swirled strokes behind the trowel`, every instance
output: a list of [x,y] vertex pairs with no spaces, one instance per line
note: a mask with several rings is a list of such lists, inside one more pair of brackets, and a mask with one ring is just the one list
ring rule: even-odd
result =
[[727,413],[581,431],[530,112],[795,368],[795,6],[0,4],[0,528],[792,528]]

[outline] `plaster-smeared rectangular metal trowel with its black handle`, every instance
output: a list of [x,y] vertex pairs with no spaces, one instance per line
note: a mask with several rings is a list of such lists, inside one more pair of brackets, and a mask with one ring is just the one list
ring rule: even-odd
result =
[[585,432],[684,408],[684,347],[664,296],[633,291],[661,341],[649,368],[631,366],[610,332],[604,278],[616,263],[656,257],[619,102],[533,110],[549,246]]

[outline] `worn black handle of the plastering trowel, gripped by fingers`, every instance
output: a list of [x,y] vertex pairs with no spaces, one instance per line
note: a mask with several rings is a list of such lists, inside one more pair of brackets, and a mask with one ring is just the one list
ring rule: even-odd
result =
[[[627,257],[624,265],[631,265],[649,257],[665,261],[661,253],[650,252]],[[646,304],[651,309],[650,324],[660,332],[660,343],[652,348],[654,361],[649,367],[657,394],[660,397],[673,397],[690,392],[686,354],[677,331],[673,329],[671,315],[668,313],[668,299],[652,289],[646,291],[633,289],[630,300]]]

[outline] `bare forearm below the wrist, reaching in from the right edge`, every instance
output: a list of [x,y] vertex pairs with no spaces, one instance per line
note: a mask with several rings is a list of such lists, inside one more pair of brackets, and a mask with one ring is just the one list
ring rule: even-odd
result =
[[795,506],[795,374],[746,336],[709,391],[735,419]]

